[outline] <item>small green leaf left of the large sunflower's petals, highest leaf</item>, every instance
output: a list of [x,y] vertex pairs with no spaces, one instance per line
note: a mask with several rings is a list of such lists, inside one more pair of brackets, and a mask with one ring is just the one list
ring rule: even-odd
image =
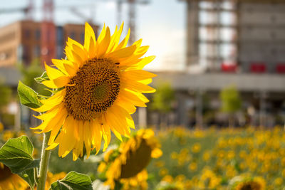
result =
[[29,88],[27,85],[21,83],[21,81],[19,81],[18,93],[22,105],[26,105],[26,107],[31,108],[41,106],[41,102],[38,100],[38,93],[33,91],[33,89]]

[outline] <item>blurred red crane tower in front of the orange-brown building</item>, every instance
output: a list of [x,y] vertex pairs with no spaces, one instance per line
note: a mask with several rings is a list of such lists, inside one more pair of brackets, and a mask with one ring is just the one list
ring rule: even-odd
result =
[[53,0],[43,1],[43,21],[41,23],[41,63],[51,65],[56,58],[56,26],[53,23]]

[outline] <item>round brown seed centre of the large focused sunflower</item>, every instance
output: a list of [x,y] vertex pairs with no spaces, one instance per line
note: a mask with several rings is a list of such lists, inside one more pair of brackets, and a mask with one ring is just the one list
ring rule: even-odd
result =
[[111,107],[120,91],[118,66],[108,59],[90,59],[71,78],[64,103],[77,120],[98,117]]

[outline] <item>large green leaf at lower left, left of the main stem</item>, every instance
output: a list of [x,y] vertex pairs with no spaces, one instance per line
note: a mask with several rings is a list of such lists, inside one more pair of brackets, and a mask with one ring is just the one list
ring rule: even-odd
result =
[[34,186],[33,168],[39,159],[33,159],[33,144],[26,136],[9,139],[0,149],[0,162],[15,174],[19,174],[30,186]]

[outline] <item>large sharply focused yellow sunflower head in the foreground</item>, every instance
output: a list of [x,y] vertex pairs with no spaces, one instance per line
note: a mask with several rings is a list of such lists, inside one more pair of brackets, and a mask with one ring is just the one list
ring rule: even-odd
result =
[[111,36],[104,25],[95,40],[86,23],[84,45],[68,38],[66,59],[52,60],[58,69],[45,64],[49,80],[42,83],[57,93],[33,109],[45,112],[36,116],[43,122],[33,129],[51,131],[47,149],[58,146],[59,157],[73,151],[76,160],[86,150],[88,158],[91,150],[98,153],[102,137],[105,151],[110,131],[120,140],[130,137],[130,128],[135,129],[130,114],[135,106],[146,107],[149,100],[142,93],[155,92],[148,84],[156,75],[142,70],[155,56],[142,58],[149,47],[141,46],[141,39],[126,47],[130,30],[120,42],[122,31],[123,24]]

